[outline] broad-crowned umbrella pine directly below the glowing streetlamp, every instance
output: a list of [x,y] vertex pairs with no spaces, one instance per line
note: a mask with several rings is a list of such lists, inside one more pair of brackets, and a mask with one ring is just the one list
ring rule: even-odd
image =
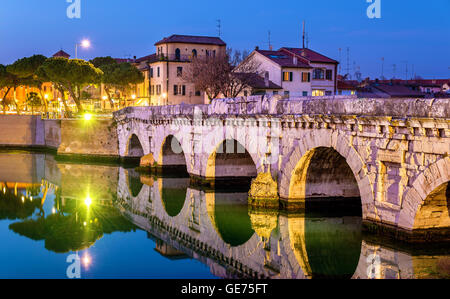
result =
[[47,59],[38,73],[66,90],[77,105],[79,113],[84,111],[81,105],[83,87],[100,82],[103,75],[103,72],[90,62],[64,57]]

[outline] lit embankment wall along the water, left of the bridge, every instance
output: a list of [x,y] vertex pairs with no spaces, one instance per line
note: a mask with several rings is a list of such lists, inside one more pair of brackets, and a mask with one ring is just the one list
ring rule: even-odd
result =
[[129,163],[119,156],[113,119],[43,120],[40,116],[0,115],[0,149],[56,153],[77,162]]

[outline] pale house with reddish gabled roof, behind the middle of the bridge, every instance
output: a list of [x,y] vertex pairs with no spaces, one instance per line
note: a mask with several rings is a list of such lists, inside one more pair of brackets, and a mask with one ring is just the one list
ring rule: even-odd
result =
[[337,91],[338,62],[308,48],[283,47],[277,51],[258,47],[243,63],[256,63],[259,71],[281,87],[273,94],[325,96]]

